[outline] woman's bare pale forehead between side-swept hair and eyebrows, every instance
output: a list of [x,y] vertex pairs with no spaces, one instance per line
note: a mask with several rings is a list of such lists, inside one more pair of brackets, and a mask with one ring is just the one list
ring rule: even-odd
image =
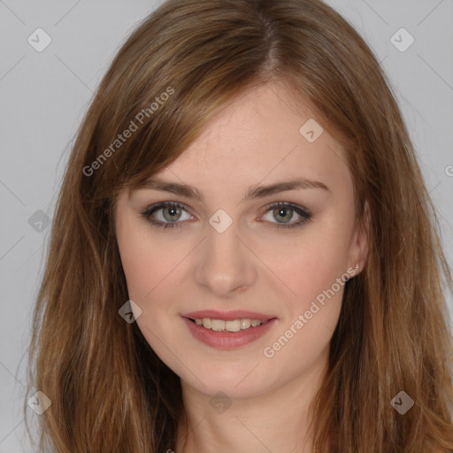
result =
[[[324,126],[324,127],[323,127]],[[305,177],[344,184],[350,180],[342,146],[297,105],[283,86],[251,88],[228,104],[188,149],[160,173],[191,184],[222,188]]]

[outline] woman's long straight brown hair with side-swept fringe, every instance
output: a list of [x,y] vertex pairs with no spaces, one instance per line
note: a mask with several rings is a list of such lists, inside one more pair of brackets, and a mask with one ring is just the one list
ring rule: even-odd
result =
[[[174,449],[180,380],[119,316],[128,296],[115,202],[269,81],[309,100],[342,142],[357,221],[365,202],[370,213],[368,261],[346,283],[313,403],[313,452],[453,451],[442,291],[453,283],[434,205],[377,59],[316,0],[168,0],[112,61],[65,168],[36,300],[28,395],[51,401],[40,451]],[[401,391],[414,402],[403,415],[391,404]]]

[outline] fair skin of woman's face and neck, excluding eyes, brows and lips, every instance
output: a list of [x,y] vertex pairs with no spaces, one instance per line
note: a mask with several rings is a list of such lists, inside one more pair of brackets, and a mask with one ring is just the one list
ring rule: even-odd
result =
[[[358,263],[361,271],[367,226],[354,222],[341,145],[326,127],[308,142],[299,129],[313,118],[309,105],[296,113],[291,98],[283,86],[251,88],[155,175],[195,186],[204,203],[148,188],[119,195],[116,234],[130,299],[142,309],[136,322],[181,380],[189,430],[180,424],[176,453],[311,452],[309,405],[326,372],[344,287],[273,357],[264,349],[348,269]],[[329,190],[293,189],[241,202],[250,186],[294,177],[321,181]],[[174,219],[180,227],[164,229],[142,217],[164,201],[188,211],[165,208],[154,219]],[[268,207],[276,202],[304,207],[312,217],[277,228],[301,217],[296,211],[279,216]],[[209,223],[219,209],[233,219],[221,234]],[[278,323],[255,342],[220,350],[196,340],[180,316],[203,309],[257,311]],[[211,404],[219,391],[232,403],[222,413]]]

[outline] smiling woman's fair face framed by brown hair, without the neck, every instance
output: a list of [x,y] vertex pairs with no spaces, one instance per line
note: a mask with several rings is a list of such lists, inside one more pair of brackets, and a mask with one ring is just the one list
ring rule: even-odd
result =
[[[174,191],[150,183],[119,196],[136,322],[205,395],[262,395],[326,364],[344,281],[365,262],[342,147],[290,100],[281,87],[251,89],[153,176]],[[177,204],[152,210],[162,202]]]

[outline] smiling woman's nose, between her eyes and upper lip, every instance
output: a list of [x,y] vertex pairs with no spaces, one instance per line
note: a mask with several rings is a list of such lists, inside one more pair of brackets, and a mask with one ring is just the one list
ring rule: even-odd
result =
[[209,226],[199,247],[195,279],[211,295],[234,297],[253,286],[257,257],[240,238],[235,223],[223,233]]

